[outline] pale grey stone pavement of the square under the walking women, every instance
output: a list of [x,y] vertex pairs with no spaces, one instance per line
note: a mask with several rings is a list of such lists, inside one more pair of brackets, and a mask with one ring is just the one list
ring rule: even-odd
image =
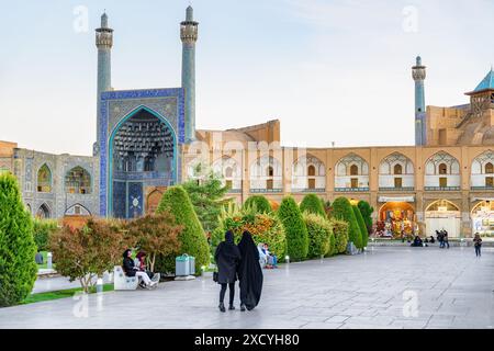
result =
[[0,328],[493,328],[493,290],[492,248],[377,247],[265,270],[252,312],[221,314],[207,276],[1,308]]

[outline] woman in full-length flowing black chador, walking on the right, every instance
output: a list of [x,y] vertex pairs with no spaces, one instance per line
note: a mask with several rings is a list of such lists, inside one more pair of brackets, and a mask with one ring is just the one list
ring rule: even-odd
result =
[[244,231],[238,242],[242,261],[238,267],[238,279],[240,281],[240,310],[251,310],[257,306],[262,291],[262,270],[259,264],[259,250],[254,244],[252,236]]

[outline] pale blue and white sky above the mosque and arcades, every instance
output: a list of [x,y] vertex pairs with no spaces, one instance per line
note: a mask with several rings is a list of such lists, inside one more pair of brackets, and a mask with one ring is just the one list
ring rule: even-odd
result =
[[467,103],[494,61],[491,0],[0,0],[0,139],[90,155],[102,11],[113,88],[168,88],[189,3],[197,127],[279,118],[285,146],[413,145],[415,56],[428,105]]

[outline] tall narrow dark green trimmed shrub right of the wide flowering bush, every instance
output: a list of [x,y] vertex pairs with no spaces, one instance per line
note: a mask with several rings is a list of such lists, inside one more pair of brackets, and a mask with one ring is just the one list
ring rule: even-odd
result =
[[291,261],[301,261],[307,257],[307,227],[299,206],[292,196],[285,196],[277,212],[287,234],[287,253]]

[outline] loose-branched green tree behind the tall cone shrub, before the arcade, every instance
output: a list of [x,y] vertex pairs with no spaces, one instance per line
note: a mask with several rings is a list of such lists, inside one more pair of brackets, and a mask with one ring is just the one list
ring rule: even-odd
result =
[[228,192],[222,181],[212,171],[201,180],[189,180],[182,184],[189,194],[202,227],[206,231],[213,231],[217,227],[220,211],[232,199],[224,199]]

